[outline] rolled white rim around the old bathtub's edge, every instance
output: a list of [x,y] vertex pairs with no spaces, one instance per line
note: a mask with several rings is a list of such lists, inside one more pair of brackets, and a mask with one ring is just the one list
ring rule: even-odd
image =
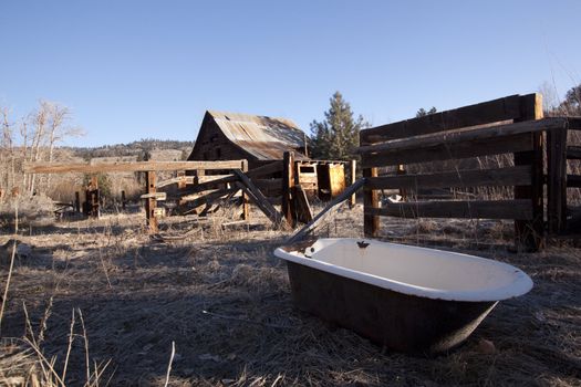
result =
[[[433,300],[445,300],[445,301],[466,301],[466,302],[495,302],[495,301],[502,301],[508,300],[512,297],[517,297],[519,295],[528,293],[532,289],[532,280],[530,279],[527,273],[525,273],[522,270],[505,263],[499,262],[496,260],[483,258],[483,257],[476,257],[471,254],[466,253],[459,253],[454,251],[446,251],[446,250],[439,250],[439,249],[430,249],[430,248],[423,248],[423,247],[415,247],[415,245],[407,245],[407,244],[401,244],[401,243],[392,243],[392,242],[384,242],[384,241],[377,241],[373,239],[366,239],[366,238],[320,238],[317,241],[314,241],[312,244],[317,242],[334,242],[334,241],[352,241],[353,243],[356,242],[366,242],[366,243],[374,243],[374,244],[387,244],[387,245],[395,245],[400,248],[406,248],[411,250],[422,250],[422,251],[438,251],[438,252],[445,252],[447,254],[453,254],[456,257],[464,257],[469,260],[477,260],[477,261],[485,261],[487,264],[497,266],[504,271],[509,271],[515,276],[515,280],[512,283],[500,286],[500,287],[494,287],[494,289],[487,289],[485,291],[477,291],[477,290],[469,290],[469,291],[449,291],[449,290],[442,290],[442,289],[433,289],[433,287],[425,287],[425,286],[418,286],[413,285],[395,280],[385,279],[378,275],[369,274],[364,272],[360,272],[356,270],[339,266],[332,263],[328,263],[324,261],[320,261],[313,258],[308,258],[304,255],[302,251],[284,250],[286,248],[292,248],[291,247],[279,247],[274,250],[274,255],[283,259],[286,261],[291,261],[298,264],[303,264],[313,269],[322,270],[332,274],[336,274],[340,276],[345,276],[355,281],[361,281],[371,285],[380,286],[383,289],[392,290],[395,292],[409,294],[409,295],[416,295],[421,297],[427,297]],[[311,245],[312,245],[311,244]],[[304,251],[304,248],[302,248]]]

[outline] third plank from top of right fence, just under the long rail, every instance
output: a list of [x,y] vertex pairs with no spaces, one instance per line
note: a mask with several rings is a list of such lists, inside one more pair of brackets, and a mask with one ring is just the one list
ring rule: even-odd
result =
[[392,149],[380,154],[364,154],[361,157],[361,164],[362,168],[371,168],[499,155],[531,149],[532,138],[530,134],[521,134],[504,138],[477,139],[470,143],[438,144],[424,149]]

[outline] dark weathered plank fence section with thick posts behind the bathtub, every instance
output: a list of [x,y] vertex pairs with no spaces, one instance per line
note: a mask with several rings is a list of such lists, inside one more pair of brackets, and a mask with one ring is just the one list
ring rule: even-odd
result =
[[[362,130],[365,234],[377,237],[380,217],[385,216],[511,219],[518,245],[542,248],[547,223],[551,232],[567,227],[566,187],[579,184],[563,167],[568,157],[579,157],[579,148],[566,144],[567,130],[579,129],[579,118],[543,118],[541,95],[528,94]],[[511,155],[511,163],[461,168],[460,160],[491,155]],[[440,170],[405,174],[408,165],[426,163],[439,163]],[[380,168],[393,171],[380,176]],[[512,197],[380,202],[380,192],[388,189],[474,187],[509,187]]]

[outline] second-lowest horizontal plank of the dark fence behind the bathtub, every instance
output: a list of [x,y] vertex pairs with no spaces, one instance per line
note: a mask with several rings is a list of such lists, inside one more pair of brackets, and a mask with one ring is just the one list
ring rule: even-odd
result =
[[371,177],[365,188],[370,189],[417,189],[481,186],[526,186],[531,182],[530,167],[497,169],[473,169],[430,175],[397,175]]

